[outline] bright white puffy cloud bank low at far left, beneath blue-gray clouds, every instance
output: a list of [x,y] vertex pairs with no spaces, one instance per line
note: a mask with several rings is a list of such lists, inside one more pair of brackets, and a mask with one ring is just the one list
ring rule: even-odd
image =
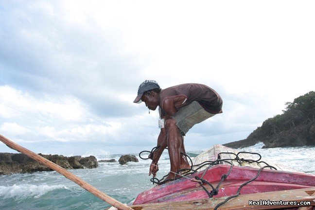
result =
[[[26,114],[38,119],[61,120],[80,123],[85,120],[87,108],[71,96],[49,96],[49,100],[38,99],[28,92],[9,86],[0,86],[0,116],[22,117]],[[24,112],[24,113],[23,113]]]

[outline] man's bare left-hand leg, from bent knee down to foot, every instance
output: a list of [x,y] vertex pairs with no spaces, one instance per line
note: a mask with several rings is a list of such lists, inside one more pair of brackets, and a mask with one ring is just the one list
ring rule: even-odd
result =
[[178,177],[175,173],[180,170],[180,148],[182,137],[180,136],[179,128],[176,126],[176,120],[166,120],[165,126],[167,130],[167,147],[171,162],[170,174],[165,179],[174,179],[175,177]]

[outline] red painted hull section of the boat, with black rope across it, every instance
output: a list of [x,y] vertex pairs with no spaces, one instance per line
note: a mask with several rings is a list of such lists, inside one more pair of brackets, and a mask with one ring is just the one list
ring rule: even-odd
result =
[[[208,180],[208,182],[215,188],[220,182],[221,176],[227,174],[229,169],[229,165],[220,164],[213,166],[206,172],[204,179]],[[236,194],[240,185],[255,177],[258,171],[259,169],[257,168],[233,166],[230,175],[223,181],[218,190],[218,194],[214,195],[213,198]],[[204,171],[201,171],[187,177],[201,177],[203,173]],[[141,192],[133,204],[137,205],[209,198],[202,187],[199,186],[199,184],[198,186],[196,185],[197,182],[193,182],[187,178],[180,178],[174,182],[169,182]],[[208,184],[204,184],[204,186],[209,192],[211,191]],[[314,186],[315,175],[263,169],[257,179],[242,188],[241,194],[293,190]]]

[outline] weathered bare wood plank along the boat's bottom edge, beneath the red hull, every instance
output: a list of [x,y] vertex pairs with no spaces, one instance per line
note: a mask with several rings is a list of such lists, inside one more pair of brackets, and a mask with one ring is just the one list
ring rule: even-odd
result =
[[[227,201],[226,204],[219,207],[219,210],[272,210],[288,209],[302,207],[299,205],[249,205],[249,200],[260,201],[310,201],[311,206],[315,206],[315,188],[305,188],[290,191],[262,192],[255,194],[239,195]],[[191,201],[154,203],[131,206],[134,210],[213,210],[217,204],[223,202],[227,197],[198,199]]]

